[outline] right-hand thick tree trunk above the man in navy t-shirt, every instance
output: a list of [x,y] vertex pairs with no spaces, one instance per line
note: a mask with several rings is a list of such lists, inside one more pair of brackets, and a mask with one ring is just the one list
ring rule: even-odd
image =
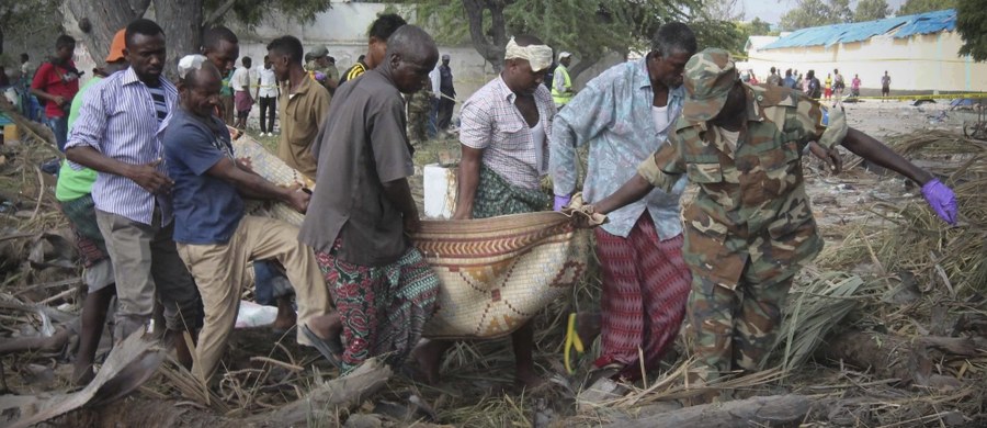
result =
[[164,72],[174,79],[178,60],[202,46],[202,0],[155,0],[155,20],[168,45]]

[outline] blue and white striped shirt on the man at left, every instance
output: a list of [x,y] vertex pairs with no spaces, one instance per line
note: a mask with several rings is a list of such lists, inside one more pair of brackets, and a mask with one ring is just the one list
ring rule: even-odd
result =
[[[158,137],[162,116],[178,103],[178,90],[160,79],[152,91],[133,68],[115,72],[86,92],[79,119],[66,148],[92,147],[109,158],[144,165],[161,159],[164,147]],[[158,92],[158,102],[154,92]],[[163,109],[162,109],[163,106]],[[163,162],[158,166],[167,173]],[[155,196],[123,176],[100,172],[92,187],[95,207],[149,225],[155,205],[161,209],[161,225],[171,222],[171,196]]]

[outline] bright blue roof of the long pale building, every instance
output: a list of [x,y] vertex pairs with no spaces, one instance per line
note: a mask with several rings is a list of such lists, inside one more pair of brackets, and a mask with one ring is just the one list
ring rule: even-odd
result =
[[917,34],[939,33],[956,29],[954,9],[915,15],[886,18],[876,21],[854,22],[802,29],[761,49],[779,49],[799,46],[832,46],[837,43],[863,42],[876,35],[892,34],[895,38]]

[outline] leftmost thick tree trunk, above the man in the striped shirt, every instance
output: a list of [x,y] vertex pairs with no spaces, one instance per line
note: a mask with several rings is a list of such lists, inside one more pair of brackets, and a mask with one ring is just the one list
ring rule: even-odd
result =
[[76,22],[89,24],[90,30],[82,33],[82,43],[93,59],[99,60],[105,57],[120,29],[144,16],[150,0],[66,0],[65,4]]

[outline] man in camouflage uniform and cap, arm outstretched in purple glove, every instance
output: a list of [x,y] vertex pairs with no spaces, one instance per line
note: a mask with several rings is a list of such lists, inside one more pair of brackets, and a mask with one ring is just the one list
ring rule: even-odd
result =
[[849,128],[842,112],[829,111],[827,119],[818,102],[796,91],[740,82],[726,50],[693,56],[684,85],[688,95],[669,144],[595,206],[605,214],[653,188],[668,192],[682,174],[699,184],[683,213],[683,257],[693,278],[688,335],[697,358],[690,386],[758,370],[774,345],[792,280],[822,248],[802,173],[806,146],[835,171],[835,147],[842,144],[921,183],[937,214],[955,223],[956,200],[945,184]]

